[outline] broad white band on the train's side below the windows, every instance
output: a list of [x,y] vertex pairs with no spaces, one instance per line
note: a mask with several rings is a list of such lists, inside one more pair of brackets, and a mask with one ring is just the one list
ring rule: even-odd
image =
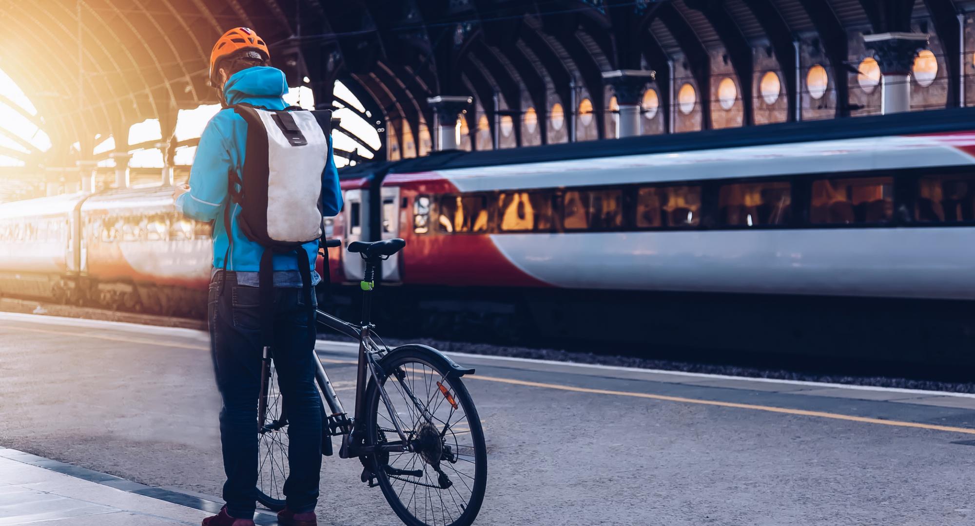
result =
[[527,275],[566,288],[975,299],[975,229],[491,235]]

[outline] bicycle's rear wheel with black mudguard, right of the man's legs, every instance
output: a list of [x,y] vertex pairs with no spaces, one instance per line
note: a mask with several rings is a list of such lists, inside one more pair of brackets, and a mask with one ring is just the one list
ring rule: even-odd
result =
[[381,383],[370,382],[366,394],[367,444],[403,444],[394,419],[408,440],[402,453],[370,455],[383,496],[409,526],[468,526],[487,485],[484,430],[470,394],[421,346],[394,350],[382,367]]

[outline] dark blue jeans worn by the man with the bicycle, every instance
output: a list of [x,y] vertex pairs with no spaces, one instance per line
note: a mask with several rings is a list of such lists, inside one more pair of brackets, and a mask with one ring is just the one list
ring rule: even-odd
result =
[[[260,391],[261,312],[259,289],[240,285],[233,272],[210,282],[210,348],[216,387],[223,398],[220,443],[223,447],[223,500],[227,512],[253,518],[257,485],[257,396]],[[315,303],[314,291],[311,294]],[[271,346],[278,385],[289,414],[288,466],[284,493],[295,513],[318,503],[322,469],[322,399],[315,386],[313,344],[300,287],[274,289],[274,342]]]

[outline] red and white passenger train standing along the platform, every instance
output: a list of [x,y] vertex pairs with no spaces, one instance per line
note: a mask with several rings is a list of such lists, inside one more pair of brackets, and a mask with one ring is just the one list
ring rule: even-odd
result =
[[[342,169],[347,244],[404,238],[387,324],[468,339],[972,363],[975,109],[441,152]],[[201,316],[168,188],[0,206],[0,290]],[[331,250],[354,318],[356,254]],[[357,287],[356,287],[357,288]]]

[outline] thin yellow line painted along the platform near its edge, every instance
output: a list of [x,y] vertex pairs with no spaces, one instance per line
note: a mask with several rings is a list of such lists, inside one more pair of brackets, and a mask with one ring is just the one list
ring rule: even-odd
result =
[[[87,336],[89,338],[98,338],[101,340],[108,340],[113,342],[124,342],[124,343],[137,343],[145,345],[156,345],[161,347],[175,347],[177,349],[194,349],[194,350],[206,350],[208,347],[199,345],[188,345],[188,344],[177,344],[169,342],[160,342],[158,340],[148,340],[142,338],[125,338],[116,336],[107,336],[103,334],[93,334],[90,332],[68,332],[50,329],[39,329],[39,328],[27,328],[22,326],[13,327],[16,330],[26,330],[30,332],[40,332],[45,334],[59,334],[62,336]],[[354,359],[333,359],[333,358],[321,358],[325,363],[342,363],[342,364],[355,364],[358,361]],[[858,417],[852,415],[842,415],[839,413],[828,413],[826,411],[807,411],[805,409],[789,409],[786,407],[773,407],[770,405],[758,405],[753,403],[737,403],[737,402],[724,402],[717,400],[704,400],[700,398],[686,398],[683,396],[668,396],[666,394],[647,394],[647,393],[636,393],[631,391],[612,391],[607,389],[591,389],[591,388],[580,388],[574,386],[566,386],[562,384],[548,384],[544,382],[531,382],[527,380],[515,380],[511,378],[499,378],[496,376],[484,376],[480,374],[473,374],[465,376],[464,379],[470,380],[483,380],[485,382],[497,382],[501,384],[511,384],[516,386],[524,387],[535,387],[542,389],[554,389],[558,391],[570,391],[574,393],[588,393],[588,394],[610,394],[614,396],[630,396],[635,398],[649,398],[653,400],[664,400],[664,401],[674,401],[681,403],[696,403],[699,405],[714,405],[718,407],[733,407],[736,409],[751,409],[753,411],[767,411],[770,413],[782,413],[787,415],[796,416],[809,416],[816,418],[828,418],[832,420],[845,420],[847,422],[859,422],[862,424],[877,424],[880,426],[893,426],[896,428],[915,428],[918,430],[929,430],[929,431],[941,431],[941,432],[960,432],[964,434],[975,434],[975,429],[971,428],[956,428],[953,426],[939,426],[936,424],[920,424],[917,422],[903,422],[899,420],[883,420],[880,418],[870,418],[870,417]]]

